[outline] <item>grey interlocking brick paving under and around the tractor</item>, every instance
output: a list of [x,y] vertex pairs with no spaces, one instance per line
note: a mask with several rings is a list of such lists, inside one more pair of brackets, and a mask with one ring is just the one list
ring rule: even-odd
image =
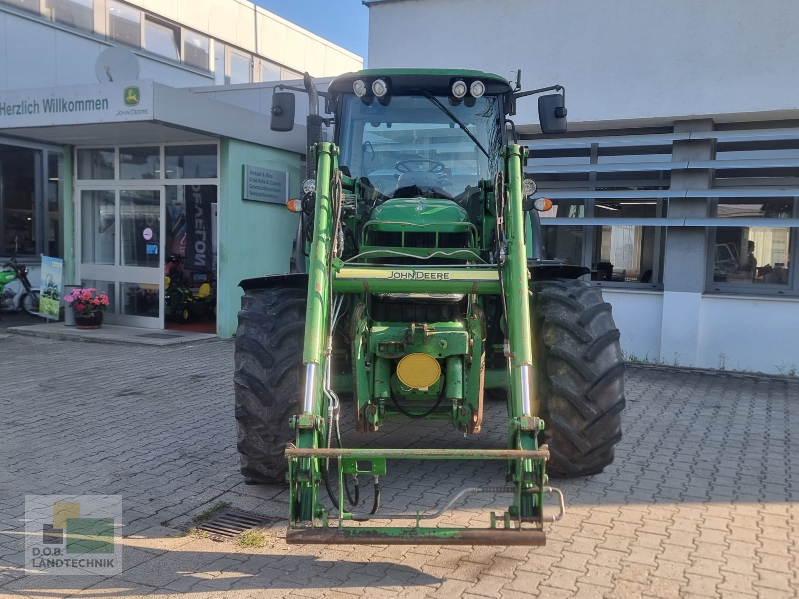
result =
[[[546,547],[289,547],[284,490],[240,482],[232,343],[4,337],[0,364],[0,597],[799,596],[796,380],[630,369],[616,462],[553,481],[568,511]],[[345,442],[499,447],[503,411],[489,404],[477,438],[419,422]],[[496,463],[389,466],[386,510],[503,482]],[[25,494],[120,494],[123,572],[27,573]],[[219,501],[281,520],[258,549],[181,534]],[[488,506],[506,505],[480,495],[439,523],[484,524]]]

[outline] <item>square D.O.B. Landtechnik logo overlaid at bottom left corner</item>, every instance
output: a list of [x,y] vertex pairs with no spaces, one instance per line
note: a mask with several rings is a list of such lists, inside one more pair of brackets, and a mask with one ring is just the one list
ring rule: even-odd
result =
[[49,574],[120,573],[121,517],[121,495],[26,495],[26,568]]

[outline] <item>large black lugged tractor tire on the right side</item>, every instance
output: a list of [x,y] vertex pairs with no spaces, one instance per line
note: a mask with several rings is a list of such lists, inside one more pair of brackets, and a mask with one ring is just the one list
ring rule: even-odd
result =
[[598,474],[622,438],[624,362],[610,303],[582,280],[536,281],[532,292],[547,470]]

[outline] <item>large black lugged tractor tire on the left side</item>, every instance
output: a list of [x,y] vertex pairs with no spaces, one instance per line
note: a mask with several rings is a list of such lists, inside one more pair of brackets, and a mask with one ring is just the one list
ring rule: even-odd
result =
[[303,383],[304,289],[252,289],[236,331],[237,446],[249,485],[285,482],[286,443]]

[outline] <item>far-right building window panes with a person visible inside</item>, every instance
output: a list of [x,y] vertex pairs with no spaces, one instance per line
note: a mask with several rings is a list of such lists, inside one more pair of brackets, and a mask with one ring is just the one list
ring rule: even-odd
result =
[[[714,216],[718,218],[792,218],[793,197],[722,197]],[[712,288],[744,285],[787,288],[790,284],[792,229],[775,226],[717,227],[711,246]]]

